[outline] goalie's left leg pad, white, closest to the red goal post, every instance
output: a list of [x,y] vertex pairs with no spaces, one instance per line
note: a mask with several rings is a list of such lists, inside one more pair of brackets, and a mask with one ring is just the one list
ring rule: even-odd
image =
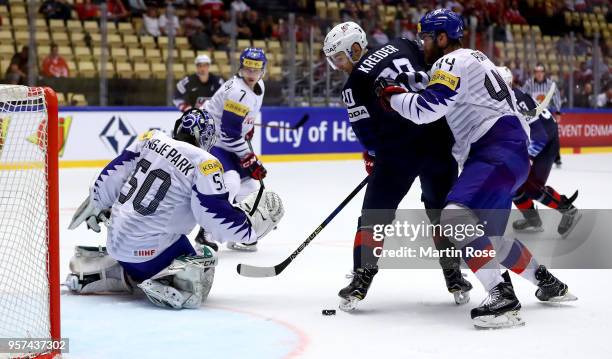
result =
[[73,293],[132,292],[128,276],[105,247],[75,247],[70,272],[65,285]]

